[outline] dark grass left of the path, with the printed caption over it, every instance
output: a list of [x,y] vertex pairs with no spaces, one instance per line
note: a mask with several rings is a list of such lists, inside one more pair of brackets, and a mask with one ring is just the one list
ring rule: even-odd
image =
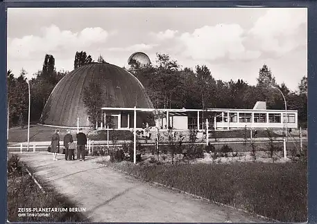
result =
[[49,214],[48,217],[19,217],[19,214],[27,213],[19,212],[19,208],[68,208],[76,207],[76,205],[71,203],[71,201],[64,196],[57,194],[49,185],[40,183],[45,189],[45,193],[42,192],[42,190],[35,184],[33,178],[28,175],[25,166],[15,156],[16,155],[8,155],[8,221],[89,222],[89,219],[80,212],[46,212],[46,214]]

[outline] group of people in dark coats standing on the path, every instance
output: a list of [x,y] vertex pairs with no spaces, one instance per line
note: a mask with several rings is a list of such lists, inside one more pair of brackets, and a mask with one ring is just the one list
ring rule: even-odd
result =
[[[51,152],[53,153],[53,160],[57,160],[57,153],[60,151],[60,130],[55,130],[51,140]],[[77,160],[85,161],[85,146],[87,144],[87,136],[83,133],[83,129],[79,129],[76,133],[77,145],[73,147],[74,140],[71,131],[67,130],[64,136],[65,160],[75,160],[74,151],[77,148]]]

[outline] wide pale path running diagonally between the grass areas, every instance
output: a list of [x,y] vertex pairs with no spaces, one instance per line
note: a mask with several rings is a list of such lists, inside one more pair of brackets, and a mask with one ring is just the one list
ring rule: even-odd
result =
[[[57,161],[47,152],[19,154],[35,176],[53,185],[93,222],[263,222],[234,209],[205,203],[163,187],[154,187],[96,163]],[[99,158],[100,159],[100,158]]]

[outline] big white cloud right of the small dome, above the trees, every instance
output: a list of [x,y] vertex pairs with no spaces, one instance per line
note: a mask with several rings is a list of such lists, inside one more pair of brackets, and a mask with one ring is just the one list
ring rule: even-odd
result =
[[218,24],[203,26],[194,32],[185,32],[179,37],[185,48],[183,55],[192,59],[216,60],[253,59],[259,57],[259,51],[247,50],[242,42],[244,30],[239,24]]

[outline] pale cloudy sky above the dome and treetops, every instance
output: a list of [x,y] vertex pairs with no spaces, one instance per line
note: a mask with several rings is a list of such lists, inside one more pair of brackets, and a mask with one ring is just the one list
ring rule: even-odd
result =
[[256,84],[266,64],[296,91],[307,76],[306,8],[8,8],[8,69],[34,77],[44,56],[72,71],[76,51],[128,67],[128,57],[170,55],[205,64],[218,80]]

